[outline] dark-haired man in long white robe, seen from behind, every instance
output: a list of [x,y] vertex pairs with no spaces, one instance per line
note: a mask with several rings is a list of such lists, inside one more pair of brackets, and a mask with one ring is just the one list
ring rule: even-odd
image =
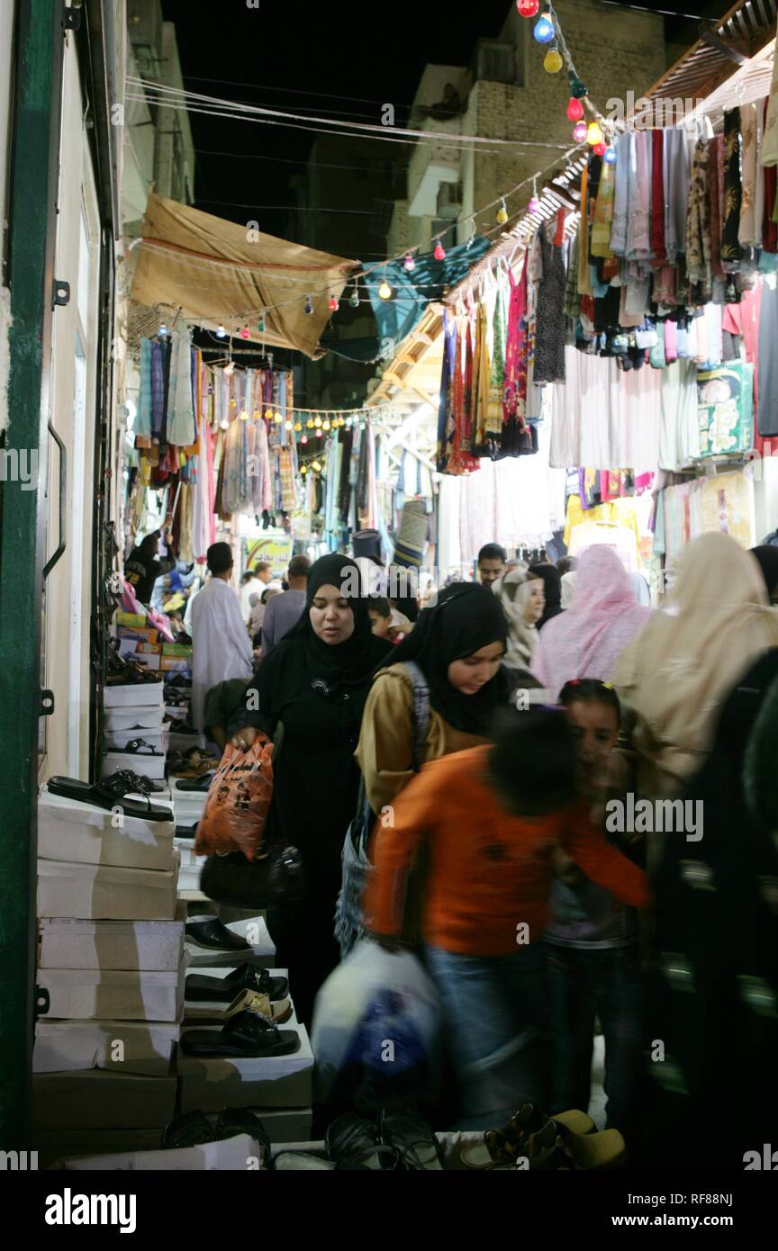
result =
[[254,672],[251,643],[240,612],[240,600],[229,584],[233,553],[229,543],[208,549],[210,579],[191,605],[191,721],[203,731],[205,694],[228,678],[249,678]]

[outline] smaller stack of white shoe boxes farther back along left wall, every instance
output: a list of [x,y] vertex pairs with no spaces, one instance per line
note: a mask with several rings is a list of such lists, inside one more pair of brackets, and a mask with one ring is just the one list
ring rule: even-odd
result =
[[[164,686],[161,682],[138,682],[109,686],[104,692],[103,777],[129,769],[149,778],[153,789],[165,783],[169,729],[165,726]],[[125,751],[133,741],[148,746],[138,752]]]

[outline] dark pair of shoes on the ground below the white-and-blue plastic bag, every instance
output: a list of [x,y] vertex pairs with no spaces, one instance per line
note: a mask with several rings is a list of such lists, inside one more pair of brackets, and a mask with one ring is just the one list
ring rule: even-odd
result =
[[443,1168],[443,1151],[424,1117],[409,1108],[388,1112],[375,1122],[353,1112],[336,1117],[324,1138],[336,1170],[417,1172]]

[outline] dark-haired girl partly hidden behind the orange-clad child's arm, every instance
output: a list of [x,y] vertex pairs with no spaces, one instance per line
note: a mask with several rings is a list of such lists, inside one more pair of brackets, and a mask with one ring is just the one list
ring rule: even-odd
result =
[[[565,683],[559,701],[578,744],[579,789],[590,804],[592,819],[600,829],[608,828],[608,799],[623,799],[629,788],[624,759],[614,751],[619,698],[608,682],[582,678]],[[640,849],[634,838],[610,841],[634,857]],[[554,1032],[552,1103],[589,1106],[597,1016],[605,1036],[608,1127],[629,1142],[642,1063],[637,913],[590,882],[564,851],[555,853],[554,862],[558,876],[545,932]]]

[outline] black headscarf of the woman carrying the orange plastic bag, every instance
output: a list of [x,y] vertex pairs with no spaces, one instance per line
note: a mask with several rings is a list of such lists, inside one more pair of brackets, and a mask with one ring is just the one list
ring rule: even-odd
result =
[[[321,587],[339,587],[349,602],[354,633],[344,643],[325,643],[310,624],[310,607]],[[359,565],[350,557],[336,552],[320,557],[308,574],[303,615],[284,636],[284,642],[301,639],[311,686],[324,698],[359,686],[365,686],[366,693],[373,669],[392,648],[386,639],[373,634],[369,599],[363,590]]]

